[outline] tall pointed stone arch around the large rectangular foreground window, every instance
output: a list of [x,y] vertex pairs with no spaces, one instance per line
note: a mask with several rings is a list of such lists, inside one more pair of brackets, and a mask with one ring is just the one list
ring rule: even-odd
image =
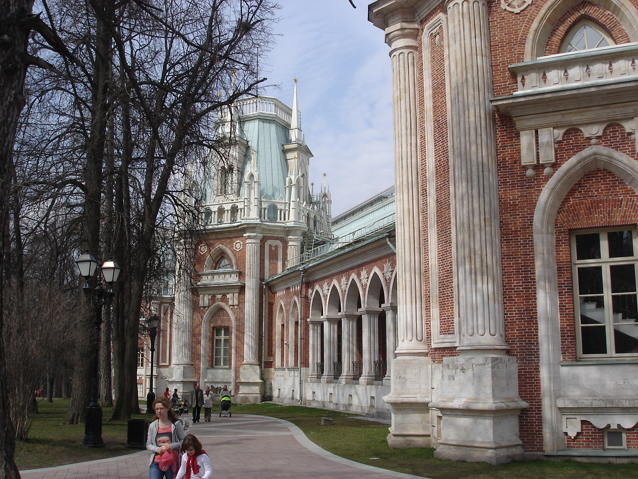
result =
[[605,169],[623,179],[638,193],[638,162],[619,151],[591,146],[572,156],[547,181],[534,211],[534,262],[542,390],[542,423],[545,452],[563,448],[561,414],[556,399],[561,396],[559,363],[560,310],[556,273],[555,222],[558,209],[572,186],[594,169]]

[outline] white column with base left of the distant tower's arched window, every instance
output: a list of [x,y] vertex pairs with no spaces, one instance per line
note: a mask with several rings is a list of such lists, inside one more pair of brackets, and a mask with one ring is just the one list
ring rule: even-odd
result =
[[[181,239],[175,266],[175,309],[172,324],[172,384],[180,391],[193,387],[193,243]],[[197,376],[200,376],[199,374]]]

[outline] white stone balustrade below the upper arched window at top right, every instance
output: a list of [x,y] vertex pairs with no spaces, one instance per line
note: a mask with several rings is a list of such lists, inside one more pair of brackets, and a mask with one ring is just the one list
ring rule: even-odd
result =
[[521,95],[544,89],[637,80],[637,58],[638,43],[625,43],[540,57],[534,61],[512,65],[509,70],[516,75],[518,83],[518,91],[514,95]]

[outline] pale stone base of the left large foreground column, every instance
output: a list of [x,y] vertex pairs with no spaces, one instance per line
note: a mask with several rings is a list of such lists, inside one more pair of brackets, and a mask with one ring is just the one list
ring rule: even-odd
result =
[[401,354],[392,364],[392,391],[383,398],[392,409],[387,443],[392,448],[432,445],[431,361],[427,354]]

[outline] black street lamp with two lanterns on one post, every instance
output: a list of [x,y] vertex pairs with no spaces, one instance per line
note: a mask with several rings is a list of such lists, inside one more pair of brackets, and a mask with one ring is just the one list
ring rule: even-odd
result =
[[[102,441],[102,407],[98,402],[98,351],[100,350],[100,327],[102,324],[102,307],[110,305],[113,297],[112,284],[119,277],[119,265],[109,259],[103,262],[98,271],[98,282],[95,288],[89,286],[89,278],[93,277],[98,269],[98,261],[88,251],[80,255],[75,263],[78,265],[80,275],[84,277],[84,293],[91,296],[91,302],[95,310],[93,324],[95,331],[93,335],[93,383],[91,387],[91,401],[87,406],[86,423],[84,426],[84,439],[82,445],[92,448],[104,447]],[[107,289],[102,287],[102,279],[107,283]]]

